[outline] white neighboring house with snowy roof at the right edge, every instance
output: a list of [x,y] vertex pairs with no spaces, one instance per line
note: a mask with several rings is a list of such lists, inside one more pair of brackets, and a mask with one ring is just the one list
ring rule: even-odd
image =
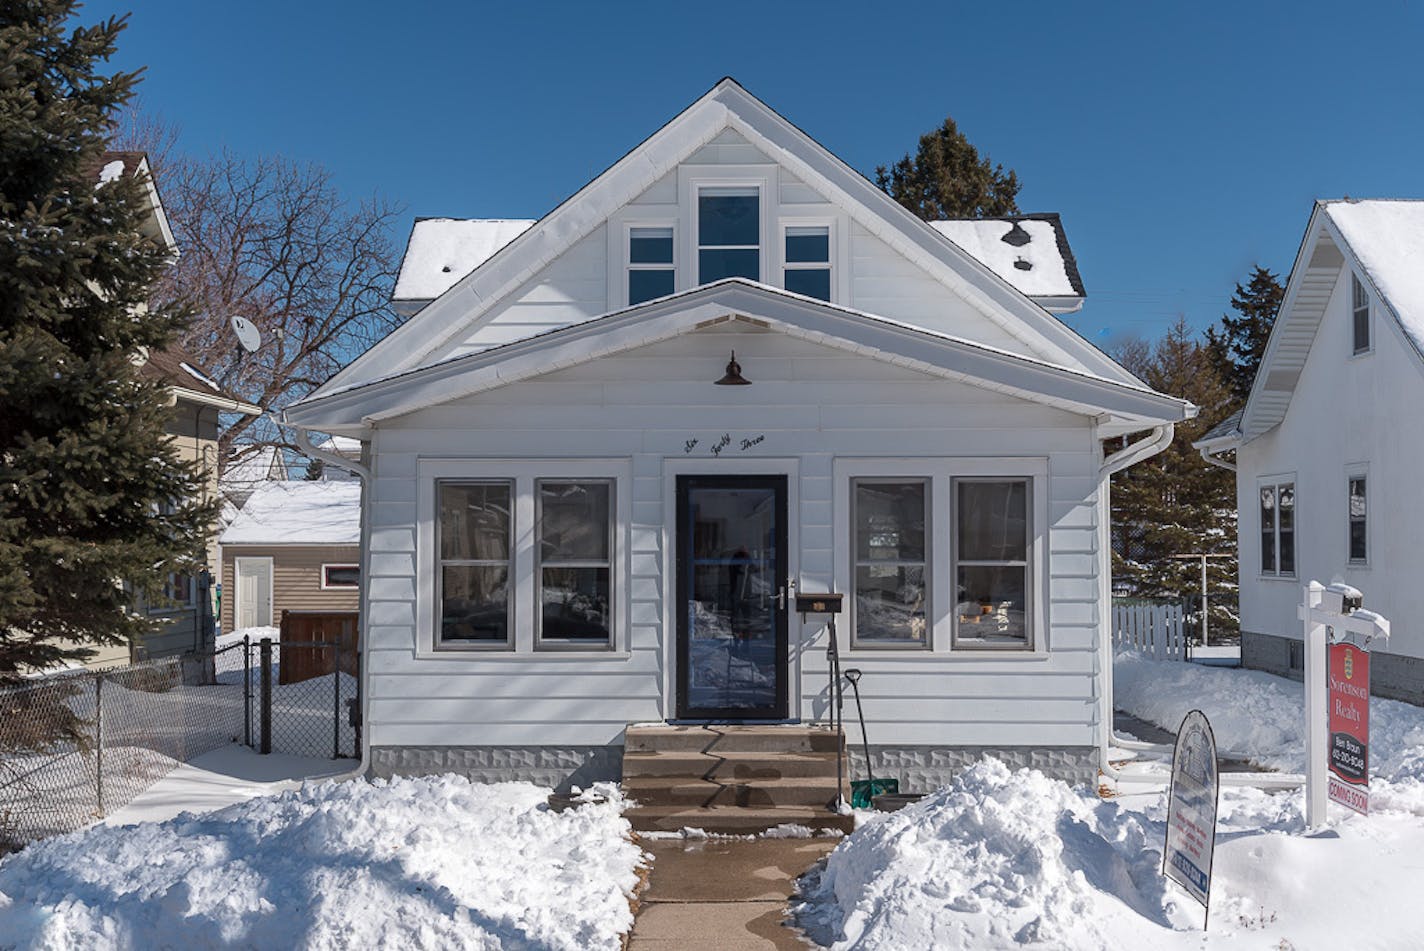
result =
[[1340,578],[1393,622],[1371,689],[1424,702],[1421,353],[1424,201],[1317,202],[1245,410],[1196,443],[1236,453],[1246,666],[1299,679],[1302,585]]

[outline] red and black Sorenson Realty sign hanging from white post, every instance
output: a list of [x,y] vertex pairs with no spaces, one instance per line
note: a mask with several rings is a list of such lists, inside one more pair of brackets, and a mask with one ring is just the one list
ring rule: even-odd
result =
[[1357,643],[1329,648],[1330,802],[1370,813],[1370,652]]

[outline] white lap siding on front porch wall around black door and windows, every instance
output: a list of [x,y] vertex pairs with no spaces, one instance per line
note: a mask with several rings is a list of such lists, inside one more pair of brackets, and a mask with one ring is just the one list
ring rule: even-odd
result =
[[[740,330],[728,327],[740,326]],[[749,387],[718,387],[736,350]],[[722,436],[731,444],[713,457]],[[760,441],[742,448],[742,440]],[[691,450],[688,443],[693,441]],[[612,653],[417,656],[420,460],[622,460],[631,473],[627,629]],[[420,410],[373,437],[366,597],[375,746],[621,743],[672,716],[674,616],[665,597],[674,473],[795,473],[790,564],[807,591],[836,575],[837,458],[1037,458],[1047,467],[1048,649],[846,653],[864,671],[876,745],[1092,746],[1098,740],[1098,457],[1087,417],[772,332],[721,327]],[[562,474],[564,470],[560,470]],[[913,473],[911,473],[913,474]],[[431,513],[426,513],[429,518]],[[517,531],[527,531],[520,527]],[[947,538],[936,569],[948,571]],[[1045,605],[1035,605],[1042,611]],[[530,616],[533,604],[524,609]],[[842,616],[849,635],[849,614]],[[824,715],[820,624],[792,616],[792,716]],[[426,634],[429,638],[429,632]],[[803,653],[799,638],[816,638]],[[797,656],[800,659],[797,659]]]

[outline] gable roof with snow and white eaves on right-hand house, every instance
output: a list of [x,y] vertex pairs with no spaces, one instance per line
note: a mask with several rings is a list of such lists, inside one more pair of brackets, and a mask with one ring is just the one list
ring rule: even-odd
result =
[[1421,265],[1424,201],[1317,201],[1242,411],[1239,440],[1249,443],[1286,419],[1341,268],[1360,276],[1424,362]]

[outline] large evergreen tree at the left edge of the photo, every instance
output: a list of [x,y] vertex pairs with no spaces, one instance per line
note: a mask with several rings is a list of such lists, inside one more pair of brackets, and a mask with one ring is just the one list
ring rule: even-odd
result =
[[192,569],[215,514],[138,374],[185,316],[145,306],[167,249],[144,184],[101,175],[124,23],[73,27],[77,6],[0,3],[0,679],[152,629],[138,598]]

